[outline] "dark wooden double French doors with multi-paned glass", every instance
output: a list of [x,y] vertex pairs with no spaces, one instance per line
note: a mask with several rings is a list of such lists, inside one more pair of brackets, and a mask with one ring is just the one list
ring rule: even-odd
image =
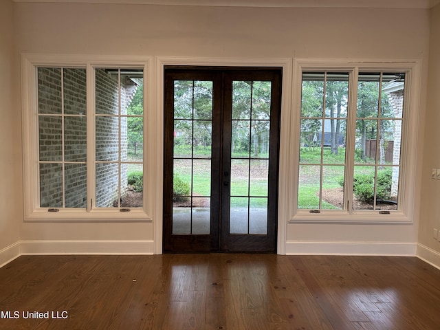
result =
[[164,70],[164,252],[275,252],[280,68]]

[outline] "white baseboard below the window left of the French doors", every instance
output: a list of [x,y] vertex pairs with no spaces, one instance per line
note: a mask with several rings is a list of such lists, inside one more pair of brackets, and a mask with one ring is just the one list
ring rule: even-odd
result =
[[154,241],[21,241],[21,254],[153,254]]

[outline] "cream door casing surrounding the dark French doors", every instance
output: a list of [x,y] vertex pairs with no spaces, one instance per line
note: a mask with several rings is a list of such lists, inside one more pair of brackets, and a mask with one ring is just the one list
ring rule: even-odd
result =
[[[294,139],[289,136],[289,129],[292,126],[292,58],[188,58],[157,56],[155,58],[155,70],[153,72],[155,85],[156,111],[147,115],[146,120],[153,120],[157,123],[154,132],[148,132],[147,139],[154,142],[155,159],[152,166],[155,167],[155,197],[151,209],[154,209],[154,254],[162,254],[163,245],[163,177],[164,177],[164,67],[167,65],[182,66],[208,66],[208,67],[282,67],[283,80],[281,85],[281,127],[279,134],[279,168],[278,168],[278,223],[276,232],[276,253],[285,254],[287,222],[292,216],[289,207],[291,203],[286,199],[289,196],[288,186],[289,171],[287,164],[291,153],[289,152],[289,141]],[[148,207],[148,206],[147,206]],[[149,207],[148,207],[149,208]]]

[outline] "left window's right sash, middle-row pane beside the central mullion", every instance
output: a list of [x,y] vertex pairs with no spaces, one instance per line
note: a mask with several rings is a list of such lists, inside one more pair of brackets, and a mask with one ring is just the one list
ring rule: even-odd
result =
[[118,117],[96,117],[96,160],[115,162],[119,159]]

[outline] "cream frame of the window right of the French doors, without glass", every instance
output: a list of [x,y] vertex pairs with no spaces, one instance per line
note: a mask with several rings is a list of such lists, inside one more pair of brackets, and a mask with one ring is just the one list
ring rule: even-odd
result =
[[[419,122],[419,94],[421,85],[421,61],[350,61],[350,60],[310,60],[294,61],[294,96],[292,112],[292,145],[290,161],[292,164],[292,209],[289,222],[292,223],[413,223],[415,218],[415,188],[417,168],[417,126]],[[353,192],[355,113],[347,113],[351,122],[347,129],[346,184],[344,202],[349,201],[345,210],[320,209],[318,213],[311,209],[298,208],[298,170],[300,166],[300,115],[303,72],[349,72],[348,109],[356,109],[359,72],[404,72],[406,74],[404,118],[402,119],[401,159],[399,174],[399,208],[384,214],[381,210],[353,210],[351,196]],[[354,122],[354,124],[353,124]]]

